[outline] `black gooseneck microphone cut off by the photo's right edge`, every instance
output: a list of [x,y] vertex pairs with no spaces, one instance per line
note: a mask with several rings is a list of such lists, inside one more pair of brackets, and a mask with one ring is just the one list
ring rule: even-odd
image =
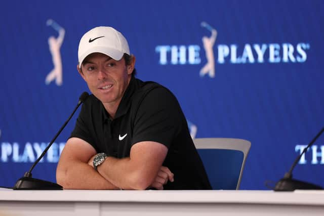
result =
[[302,155],[309,149],[317,138],[324,132],[324,127],[320,130],[320,132],[313,138],[313,140],[307,145],[306,148],[302,151],[302,153],[296,158],[295,162],[293,163],[292,167],[290,168],[289,172],[286,172],[284,178],[280,179],[274,186],[274,191],[294,191],[294,190],[323,190],[322,187],[318,185],[314,185],[308,182],[302,182],[293,179],[293,169],[295,168],[296,164],[302,157]]

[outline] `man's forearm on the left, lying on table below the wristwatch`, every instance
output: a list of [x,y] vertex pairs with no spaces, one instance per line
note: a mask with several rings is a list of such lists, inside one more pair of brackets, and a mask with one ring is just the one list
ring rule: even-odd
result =
[[103,178],[93,167],[81,161],[70,161],[70,166],[59,165],[56,179],[64,189],[119,189]]

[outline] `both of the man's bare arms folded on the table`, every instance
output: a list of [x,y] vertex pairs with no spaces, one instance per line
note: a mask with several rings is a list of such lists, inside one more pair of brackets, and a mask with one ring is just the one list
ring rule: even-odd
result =
[[56,180],[64,189],[145,190],[152,187],[163,190],[163,185],[173,182],[173,173],[161,166],[167,152],[167,147],[159,143],[137,143],[130,157],[108,157],[97,172],[92,163],[96,150],[82,139],[70,138],[62,151]]

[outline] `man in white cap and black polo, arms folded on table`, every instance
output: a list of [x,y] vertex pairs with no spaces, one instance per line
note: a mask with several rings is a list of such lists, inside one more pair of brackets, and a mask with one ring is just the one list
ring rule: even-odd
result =
[[77,70],[91,95],[56,172],[64,189],[211,189],[178,101],[135,78],[125,37],[96,27],[80,40]]

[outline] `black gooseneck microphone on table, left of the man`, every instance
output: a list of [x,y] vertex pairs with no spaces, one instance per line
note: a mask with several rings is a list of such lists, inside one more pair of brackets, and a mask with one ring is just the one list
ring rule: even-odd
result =
[[63,131],[66,124],[69,122],[69,120],[72,118],[73,114],[75,113],[76,109],[87,100],[89,97],[89,94],[87,92],[82,93],[82,95],[79,97],[79,101],[77,102],[76,107],[74,108],[72,114],[70,117],[65,121],[63,126],[60,128],[59,132],[55,135],[53,140],[49,143],[49,145],[46,147],[46,149],[43,151],[41,156],[37,158],[37,160],[32,164],[28,172],[25,172],[24,177],[20,178],[15,186],[13,187],[14,190],[63,190],[63,187],[59,184],[48,182],[40,179],[34,179],[31,178],[31,171],[35,167],[35,165],[41,160],[46,152],[49,150],[49,148],[52,146],[56,138],[60,135],[60,133]]

